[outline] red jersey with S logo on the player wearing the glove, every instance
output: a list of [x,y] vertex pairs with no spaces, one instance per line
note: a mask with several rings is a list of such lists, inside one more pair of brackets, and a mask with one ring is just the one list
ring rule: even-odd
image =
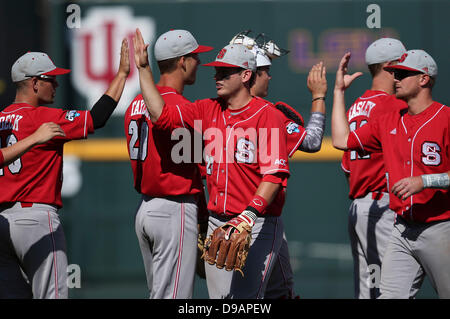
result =
[[[163,130],[189,126],[205,141],[208,209],[218,215],[240,214],[253,198],[264,176],[289,175],[284,119],[262,99],[253,98],[238,110],[222,99],[166,104],[155,125]],[[284,190],[265,214],[279,216]]]

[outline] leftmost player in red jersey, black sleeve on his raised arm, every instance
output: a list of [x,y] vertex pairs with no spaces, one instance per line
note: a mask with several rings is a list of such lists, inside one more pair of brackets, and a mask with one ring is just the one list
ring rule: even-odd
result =
[[122,42],[116,77],[91,111],[40,106],[53,103],[57,68],[47,54],[29,52],[12,66],[16,98],[0,117],[2,145],[25,139],[42,123],[64,131],[35,146],[5,167],[0,176],[0,298],[67,298],[67,255],[57,210],[62,207],[64,143],[86,138],[104,126],[114,111],[129,74],[128,45]]

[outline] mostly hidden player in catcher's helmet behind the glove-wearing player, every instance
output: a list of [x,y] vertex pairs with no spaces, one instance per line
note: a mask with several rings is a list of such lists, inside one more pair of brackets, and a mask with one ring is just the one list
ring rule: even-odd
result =
[[[250,93],[253,96],[265,98],[269,91],[270,67],[272,59],[287,54],[286,50],[280,49],[272,40],[267,40],[265,35],[260,34],[255,39],[248,36],[250,31],[245,31],[237,34],[230,42],[240,43],[252,49],[256,56],[256,78],[253,83]],[[258,42],[258,39],[262,41]],[[257,43],[258,42],[258,43]],[[287,133],[287,145],[289,157],[295,151],[302,150],[306,152],[316,152],[320,149],[323,132],[325,128],[325,101],[326,95],[326,77],[325,68],[322,64],[313,66],[308,75],[308,88],[310,89],[313,102],[311,108],[311,117],[306,128],[303,128],[303,117],[289,105],[277,102],[275,107],[286,108],[294,114],[298,120],[293,121],[294,117],[285,118],[285,127]],[[317,97],[320,97],[317,99]],[[292,271],[289,249],[286,240],[286,234],[283,233],[283,241],[278,253],[278,258],[272,270],[264,298],[266,299],[291,299],[295,297],[294,293],[294,274]]]

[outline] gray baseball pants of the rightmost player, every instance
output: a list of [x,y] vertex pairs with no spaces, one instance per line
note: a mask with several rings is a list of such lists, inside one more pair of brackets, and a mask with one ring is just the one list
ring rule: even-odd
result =
[[425,275],[439,298],[450,298],[450,220],[414,223],[397,216],[383,259],[380,298],[409,298]]

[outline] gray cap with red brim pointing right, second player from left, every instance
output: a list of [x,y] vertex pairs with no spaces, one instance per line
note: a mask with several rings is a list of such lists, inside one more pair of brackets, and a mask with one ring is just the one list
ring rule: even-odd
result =
[[186,30],[170,30],[159,36],[155,43],[156,61],[176,58],[189,53],[211,51],[213,47],[199,45],[194,36]]

